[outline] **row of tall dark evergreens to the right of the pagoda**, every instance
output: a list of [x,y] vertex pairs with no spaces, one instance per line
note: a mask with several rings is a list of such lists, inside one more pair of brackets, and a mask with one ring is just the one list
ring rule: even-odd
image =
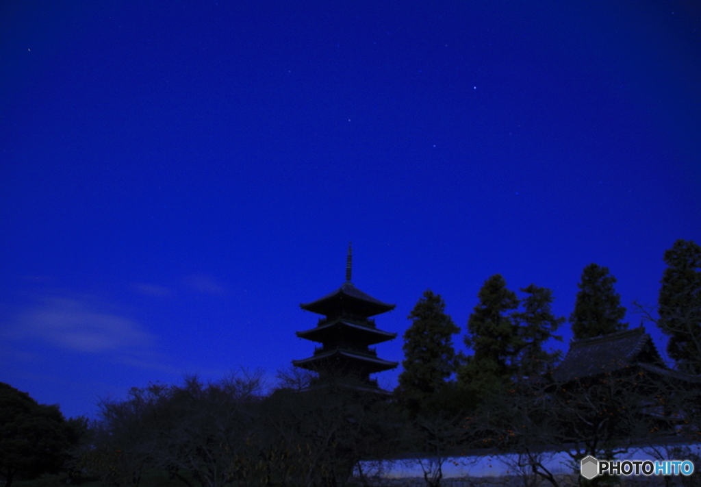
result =
[[[661,281],[659,318],[651,309],[634,306],[644,321],[669,336],[667,354],[676,361],[675,368],[701,374],[701,247],[679,240],[664,259],[667,269]],[[430,408],[432,398],[440,393],[457,389],[466,393],[461,404],[468,401],[477,406],[512,382],[552,371],[562,354],[549,352],[544,345],[551,339],[562,341],[556,333],[566,321],[575,340],[628,328],[615,282],[608,268],[594,263],[585,267],[568,320],[554,316],[550,289],[531,284],[520,289],[519,297],[503,276],[491,276],[479,290],[479,302],[468,319],[464,341],[473,352],[470,356],[456,353],[453,336],[460,329],[445,314],[440,295],[426,291],[409,314],[412,323],[404,333],[397,399],[419,411]]]

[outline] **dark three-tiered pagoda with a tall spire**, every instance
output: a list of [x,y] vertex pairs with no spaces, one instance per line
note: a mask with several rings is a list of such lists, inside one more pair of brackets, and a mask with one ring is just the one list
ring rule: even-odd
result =
[[389,394],[380,389],[370,374],[388,371],[399,363],[380,359],[369,345],[396,338],[390,333],[376,328],[370,319],[395,308],[369,296],[351,283],[351,246],[348,246],[346,261],[346,282],[318,300],[299,305],[301,309],[321,314],[317,326],[306,331],[298,331],[297,336],[305,340],[319,342],[313,356],[308,359],[293,360],[294,366],[318,373],[318,379],[310,388],[324,387],[332,383],[357,389]]

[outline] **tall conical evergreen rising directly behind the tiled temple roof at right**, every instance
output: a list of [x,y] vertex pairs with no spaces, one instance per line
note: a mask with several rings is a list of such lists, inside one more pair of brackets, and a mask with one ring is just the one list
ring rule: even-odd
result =
[[622,323],[625,307],[620,305],[620,294],[615,292],[615,277],[608,267],[596,264],[587,265],[578,283],[580,291],[570,315],[572,333],[576,340],[607,335],[628,328]]

